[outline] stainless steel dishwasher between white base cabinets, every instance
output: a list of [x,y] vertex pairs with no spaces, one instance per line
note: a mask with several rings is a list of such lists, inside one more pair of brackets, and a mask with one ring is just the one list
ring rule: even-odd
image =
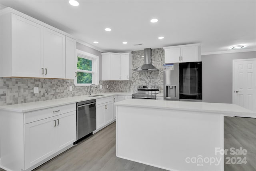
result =
[[96,130],[96,99],[76,103],[76,139]]

